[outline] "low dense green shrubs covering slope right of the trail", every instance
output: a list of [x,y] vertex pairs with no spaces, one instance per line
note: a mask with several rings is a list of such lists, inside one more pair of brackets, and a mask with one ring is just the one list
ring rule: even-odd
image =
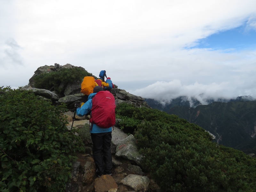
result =
[[255,158],[213,143],[208,133],[196,124],[129,104],[117,105],[116,112],[140,120],[134,136],[144,155],[142,166],[163,191],[255,190]]

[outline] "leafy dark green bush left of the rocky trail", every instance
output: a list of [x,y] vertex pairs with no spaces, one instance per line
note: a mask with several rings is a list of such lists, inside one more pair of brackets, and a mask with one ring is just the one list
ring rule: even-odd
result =
[[83,149],[66,128],[65,106],[9,87],[0,88],[0,103],[0,191],[64,191]]

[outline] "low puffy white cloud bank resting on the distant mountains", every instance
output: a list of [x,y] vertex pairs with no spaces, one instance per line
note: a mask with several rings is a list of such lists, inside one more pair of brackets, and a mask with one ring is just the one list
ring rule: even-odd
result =
[[163,105],[171,103],[173,99],[180,96],[186,96],[191,101],[190,104],[192,107],[193,98],[196,98],[201,104],[206,105],[208,104],[208,100],[234,99],[234,92],[236,92],[236,87],[228,82],[207,85],[196,82],[190,85],[182,85],[180,80],[175,79],[171,82],[156,82],[132,93],[140,95],[143,98],[157,100]]

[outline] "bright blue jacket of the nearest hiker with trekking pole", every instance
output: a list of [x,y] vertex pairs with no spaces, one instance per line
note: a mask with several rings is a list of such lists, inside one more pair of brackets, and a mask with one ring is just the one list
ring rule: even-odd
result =
[[[92,98],[96,95],[96,93],[91,93],[88,96],[88,101],[86,101],[86,103],[84,103],[84,105],[80,108],[76,109],[76,114],[78,116],[84,116],[88,113],[91,113],[91,109],[92,109]],[[111,132],[112,131],[112,127],[109,128],[101,128],[99,126],[97,126],[96,124],[91,124],[91,129],[90,132],[91,133],[105,133],[105,132]]]

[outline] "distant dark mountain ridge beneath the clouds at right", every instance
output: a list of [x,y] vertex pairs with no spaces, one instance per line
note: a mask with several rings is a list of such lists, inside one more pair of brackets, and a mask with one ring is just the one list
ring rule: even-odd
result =
[[175,114],[195,123],[216,136],[216,142],[236,148],[245,153],[256,153],[256,100],[251,96],[240,96],[224,102],[209,100],[208,105],[200,105],[194,100],[190,107],[184,97],[172,100],[163,106],[155,100],[146,99],[152,108],[168,114]]

